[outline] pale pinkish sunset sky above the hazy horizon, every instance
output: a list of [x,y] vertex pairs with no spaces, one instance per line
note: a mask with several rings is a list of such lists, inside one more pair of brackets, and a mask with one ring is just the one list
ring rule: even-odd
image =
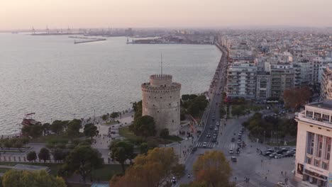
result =
[[332,26],[332,0],[0,0],[0,30]]

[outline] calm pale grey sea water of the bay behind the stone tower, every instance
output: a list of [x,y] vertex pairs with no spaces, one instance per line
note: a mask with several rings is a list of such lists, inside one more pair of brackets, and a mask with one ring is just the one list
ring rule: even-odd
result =
[[208,89],[221,52],[213,45],[126,45],[126,38],[74,45],[67,36],[0,33],[0,134],[25,113],[42,122],[131,107],[150,74],[172,74],[181,94]]

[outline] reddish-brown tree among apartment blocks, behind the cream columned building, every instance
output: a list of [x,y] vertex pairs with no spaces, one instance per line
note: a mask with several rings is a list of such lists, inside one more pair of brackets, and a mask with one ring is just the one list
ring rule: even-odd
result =
[[307,86],[299,89],[289,89],[284,91],[284,102],[286,106],[298,109],[303,106],[311,97],[311,91]]

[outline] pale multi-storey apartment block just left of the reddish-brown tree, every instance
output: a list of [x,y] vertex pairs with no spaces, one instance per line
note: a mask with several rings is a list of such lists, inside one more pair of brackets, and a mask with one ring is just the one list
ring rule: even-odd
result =
[[270,64],[271,96],[282,98],[284,91],[294,87],[294,69],[292,64]]

